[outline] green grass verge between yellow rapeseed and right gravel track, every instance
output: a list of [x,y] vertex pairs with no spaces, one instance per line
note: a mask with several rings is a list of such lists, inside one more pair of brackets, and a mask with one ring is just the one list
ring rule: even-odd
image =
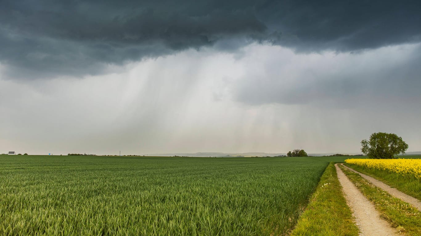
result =
[[360,165],[346,163],[346,166],[376,178],[389,186],[392,186],[405,194],[421,200],[421,179],[401,176],[397,173],[390,173],[385,170],[369,169]]

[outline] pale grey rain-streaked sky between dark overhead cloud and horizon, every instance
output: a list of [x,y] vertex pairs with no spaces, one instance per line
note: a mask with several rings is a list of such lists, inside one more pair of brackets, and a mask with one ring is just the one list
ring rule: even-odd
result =
[[0,79],[0,149],[355,153],[385,131],[419,151],[419,48],[295,54],[254,43],[241,56],[185,50],[84,79]]

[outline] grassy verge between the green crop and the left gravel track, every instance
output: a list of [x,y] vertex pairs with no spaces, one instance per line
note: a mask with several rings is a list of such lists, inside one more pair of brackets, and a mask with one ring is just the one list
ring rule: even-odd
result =
[[358,233],[342,194],[334,163],[330,163],[291,235],[357,236]]

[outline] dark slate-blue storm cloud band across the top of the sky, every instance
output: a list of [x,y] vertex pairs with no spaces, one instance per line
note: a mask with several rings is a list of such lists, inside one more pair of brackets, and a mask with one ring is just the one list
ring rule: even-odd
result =
[[[106,65],[217,45],[298,51],[419,42],[419,1],[1,1],[8,77],[101,73]],[[237,43],[233,43],[237,42]]]

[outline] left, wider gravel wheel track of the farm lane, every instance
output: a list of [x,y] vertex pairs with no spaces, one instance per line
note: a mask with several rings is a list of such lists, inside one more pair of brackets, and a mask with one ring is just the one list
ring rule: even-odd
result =
[[360,236],[400,235],[386,220],[380,218],[374,205],[352,184],[338,167],[338,164],[335,164],[335,167],[339,182],[342,185],[342,191],[344,191],[346,203],[351,208],[352,215],[355,217],[358,228],[360,228]]

